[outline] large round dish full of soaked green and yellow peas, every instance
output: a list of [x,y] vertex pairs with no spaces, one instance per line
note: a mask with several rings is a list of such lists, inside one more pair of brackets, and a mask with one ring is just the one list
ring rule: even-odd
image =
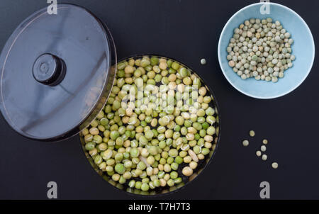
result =
[[218,104],[186,65],[142,55],[117,64],[106,105],[80,139],[95,171],[128,193],[169,193],[194,180],[216,151]]

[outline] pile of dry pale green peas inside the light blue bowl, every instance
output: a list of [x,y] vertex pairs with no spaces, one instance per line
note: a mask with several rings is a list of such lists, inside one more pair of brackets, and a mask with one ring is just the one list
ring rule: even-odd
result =
[[272,18],[242,23],[234,30],[227,47],[227,60],[242,79],[277,82],[293,66],[291,34]]

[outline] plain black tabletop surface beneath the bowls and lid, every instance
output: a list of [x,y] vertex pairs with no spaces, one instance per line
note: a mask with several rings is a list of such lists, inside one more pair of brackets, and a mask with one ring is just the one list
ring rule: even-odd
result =
[[[233,13],[257,1],[63,2],[84,6],[105,21],[120,59],[144,53],[174,57],[195,69],[216,94],[222,132],[213,162],[187,188],[157,198],[259,199],[259,184],[269,181],[272,199],[319,199],[318,60],[296,91],[266,101],[240,94],[220,71],[217,46],[223,26]],[[318,42],[319,1],[276,3],[303,17]],[[1,0],[0,48],[21,21],[45,6],[46,0]],[[203,57],[206,66],[200,64]],[[252,129],[254,139],[247,137]],[[267,162],[255,155],[264,137],[269,139]],[[245,138],[250,147],[242,147]],[[35,142],[16,134],[1,118],[0,152],[0,199],[46,199],[49,181],[57,182],[60,199],[141,198],[101,179],[84,157],[78,136]],[[279,162],[279,169],[272,169],[272,161]]]

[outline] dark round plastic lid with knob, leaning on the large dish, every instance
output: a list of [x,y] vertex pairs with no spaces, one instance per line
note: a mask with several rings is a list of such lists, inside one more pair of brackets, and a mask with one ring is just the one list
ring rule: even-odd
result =
[[64,140],[101,111],[115,67],[111,33],[96,16],[71,4],[58,4],[57,15],[42,9],[1,52],[1,113],[25,137]]

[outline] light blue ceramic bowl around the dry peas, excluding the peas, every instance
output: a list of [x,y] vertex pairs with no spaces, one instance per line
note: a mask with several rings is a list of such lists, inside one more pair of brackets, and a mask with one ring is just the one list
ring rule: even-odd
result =
[[[313,67],[315,43],[306,22],[296,12],[281,4],[269,3],[270,14],[262,15],[260,7],[263,4],[258,3],[246,6],[230,18],[220,35],[218,60],[223,74],[235,89],[247,96],[267,99],[289,94],[301,85],[308,76],[311,67]],[[285,77],[279,79],[277,83],[257,81],[252,78],[242,80],[228,65],[226,48],[228,47],[230,38],[233,37],[233,31],[241,23],[250,18],[264,19],[267,17],[273,18],[274,21],[280,21],[284,28],[291,33],[291,38],[295,40],[295,43],[292,45],[292,54],[296,55],[296,60],[293,62],[293,67],[286,70]]]

